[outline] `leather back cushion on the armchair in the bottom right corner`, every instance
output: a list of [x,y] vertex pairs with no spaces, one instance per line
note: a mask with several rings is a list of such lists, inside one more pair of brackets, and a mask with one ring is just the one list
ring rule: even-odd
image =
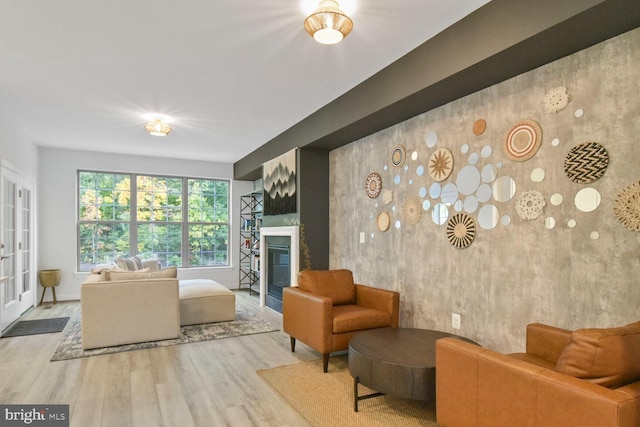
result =
[[640,322],[618,328],[578,329],[556,370],[616,388],[640,379]]

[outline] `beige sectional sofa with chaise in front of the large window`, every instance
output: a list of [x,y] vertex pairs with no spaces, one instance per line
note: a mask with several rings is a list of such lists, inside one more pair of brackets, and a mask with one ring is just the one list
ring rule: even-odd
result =
[[179,281],[175,268],[148,265],[87,276],[80,287],[83,349],[178,338],[180,326],[235,319],[231,290],[208,279]]

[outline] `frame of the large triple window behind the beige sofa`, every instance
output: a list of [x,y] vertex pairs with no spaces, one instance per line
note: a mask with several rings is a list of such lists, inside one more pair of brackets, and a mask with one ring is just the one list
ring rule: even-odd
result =
[[[129,177],[129,218],[128,220],[83,220],[81,219],[81,176],[83,173],[90,174],[109,174],[109,175],[122,175]],[[150,177],[150,178],[163,178],[163,179],[180,179],[181,182],[181,221],[140,221],[138,220],[138,177]],[[190,222],[189,221],[189,199],[190,199],[190,180],[194,181],[210,181],[213,183],[214,187],[218,186],[218,183],[223,183],[226,186],[226,207],[222,210],[226,210],[226,222],[206,222],[201,221],[202,218],[199,218],[199,221]],[[86,224],[107,224],[109,226],[113,226],[114,224],[123,224],[124,227],[129,227],[129,252],[128,253],[117,253],[117,248],[114,249],[115,256],[134,256],[138,254],[139,248],[139,230],[138,227],[141,224],[179,224],[180,232],[181,232],[181,241],[180,241],[180,257],[181,257],[181,265],[178,265],[178,268],[228,268],[231,266],[231,180],[224,178],[209,178],[209,177],[194,177],[194,176],[176,176],[176,175],[167,175],[167,174],[150,174],[150,173],[135,173],[135,172],[114,172],[114,171],[101,171],[101,170],[91,170],[91,169],[78,169],[76,173],[76,270],[78,272],[87,272],[90,271],[98,264],[84,264],[82,263],[82,239],[81,239],[81,230],[83,225]],[[216,212],[215,216],[219,215],[220,209],[215,208]],[[214,219],[218,219],[215,218]],[[190,235],[189,231],[193,226],[210,226],[210,227],[222,227],[226,228],[226,237],[224,238],[226,245],[226,253],[224,263],[213,264],[213,265],[190,265],[191,263],[191,247],[190,243]],[[224,233],[224,230],[223,230]],[[222,251],[213,251],[215,258],[215,253],[221,253]],[[113,261],[113,260],[111,260]]]

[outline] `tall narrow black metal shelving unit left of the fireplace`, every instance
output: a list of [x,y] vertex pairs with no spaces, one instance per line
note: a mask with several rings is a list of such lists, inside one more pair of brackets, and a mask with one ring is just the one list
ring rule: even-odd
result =
[[238,289],[260,293],[262,191],[240,196],[240,281]]

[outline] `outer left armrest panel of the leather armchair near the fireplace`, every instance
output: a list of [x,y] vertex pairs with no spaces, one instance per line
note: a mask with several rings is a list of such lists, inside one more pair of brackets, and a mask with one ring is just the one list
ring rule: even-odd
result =
[[282,292],[282,328],[291,337],[329,353],[333,332],[331,298],[312,294],[297,287]]

